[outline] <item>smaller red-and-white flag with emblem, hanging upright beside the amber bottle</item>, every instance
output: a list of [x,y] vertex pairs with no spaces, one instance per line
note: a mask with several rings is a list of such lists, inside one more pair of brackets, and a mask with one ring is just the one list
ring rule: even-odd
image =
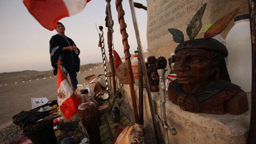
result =
[[68,85],[68,82],[60,71],[60,66],[58,66],[57,86],[58,105],[60,106],[60,110],[64,114],[66,120],[69,120],[76,114],[76,112],[78,112],[80,100],[76,97],[76,94],[74,94],[73,90]]

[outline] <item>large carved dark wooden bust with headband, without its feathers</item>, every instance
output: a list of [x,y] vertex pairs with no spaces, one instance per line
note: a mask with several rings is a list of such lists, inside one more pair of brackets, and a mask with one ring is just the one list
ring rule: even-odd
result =
[[179,44],[174,64],[177,79],[168,86],[168,99],[190,112],[246,112],[246,93],[230,82],[224,61],[226,56],[226,46],[212,38]]

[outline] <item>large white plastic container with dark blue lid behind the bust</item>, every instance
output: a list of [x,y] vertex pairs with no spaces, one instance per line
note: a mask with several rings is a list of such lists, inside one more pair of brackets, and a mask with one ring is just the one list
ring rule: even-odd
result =
[[226,36],[227,67],[231,82],[245,92],[252,89],[252,45],[249,15],[234,18],[235,25]]

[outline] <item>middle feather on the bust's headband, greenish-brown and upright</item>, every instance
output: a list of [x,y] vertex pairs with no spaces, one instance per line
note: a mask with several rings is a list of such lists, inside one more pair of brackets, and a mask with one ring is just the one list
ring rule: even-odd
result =
[[204,14],[204,10],[206,8],[206,4],[203,4],[202,7],[196,12],[190,23],[187,27],[187,34],[190,40],[194,40],[200,29],[202,28],[202,16]]

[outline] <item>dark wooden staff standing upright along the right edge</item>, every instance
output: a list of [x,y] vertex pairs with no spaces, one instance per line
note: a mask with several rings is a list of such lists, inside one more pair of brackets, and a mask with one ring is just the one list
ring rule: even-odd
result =
[[252,109],[247,144],[256,144],[256,0],[248,0],[252,40]]

